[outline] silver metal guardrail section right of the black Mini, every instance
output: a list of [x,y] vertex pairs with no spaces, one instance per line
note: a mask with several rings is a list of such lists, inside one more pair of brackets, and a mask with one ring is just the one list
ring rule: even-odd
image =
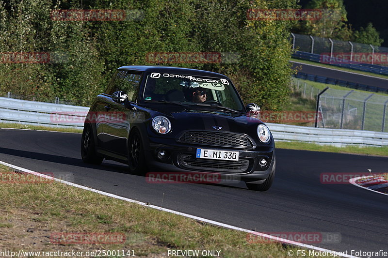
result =
[[388,133],[314,128],[288,124],[266,123],[275,140],[303,141],[320,145],[343,147],[358,146],[388,146]]

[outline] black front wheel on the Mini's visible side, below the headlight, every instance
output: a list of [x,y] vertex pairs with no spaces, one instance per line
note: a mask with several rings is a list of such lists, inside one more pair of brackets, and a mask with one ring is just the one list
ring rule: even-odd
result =
[[129,172],[137,175],[145,175],[148,171],[142,138],[136,129],[129,136],[128,167]]

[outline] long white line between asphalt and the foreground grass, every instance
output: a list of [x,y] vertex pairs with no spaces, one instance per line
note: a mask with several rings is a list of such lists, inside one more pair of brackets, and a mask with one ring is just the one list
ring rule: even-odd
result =
[[[272,236],[272,235],[267,235],[267,234],[264,234],[264,233],[248,230],[248,229],[245,229],[245,228],[238,228],[238,227],[231,226],[231,225],[228,225],[228,224],[224,224],[224,223],[221,223],[221,222],[217,222],[217,221],[214,221],[214,220],[205,219],[205,218],[197,217],[197,216],[190,215],[190,214],[187,214],[187,213],[177,212],[177,211],[166,209],[166,208],[162,208],[162,207],[159,207],[159,206],[146,204],[145,202],[129,199],[129,198],[126,198],[126,197],[121,197],[121,196],[113,195],[113,194],[106,193],[106,192],[103,192],[103,191],[99,191],[99,190],[96,190],[96,189],[93,189],[93,188],[89,188],[89,187],[82,186],[82,185],[79,185],[79,184],[75,184],[75,183],[72,183],[72,182],[67,182],[67,181],[60,180],[60,179],[57,179],[57,178],[53,178],[53,177],[50,177],[50,176],[47,176],[47,175],[44,175],[44,174],[40,174],[38,172],[29,170],[29,169],[26,169],[26,168],[23,168],[23,167],[17,167],[17,166],[14,166],[12,164],[8,164],[8,163],[2,162],[2,161],[0,161],[0,164],[2,164],[4,166],[7,166],[7,167],[12,167],[16,171],[18,171],[18,172],[25,172],[25,173],[36,175],[36,176],[39,176],[39,177],[48,178],[50,180],[54,180],[54,181],[57,181],[57,182],[65,183],[65,184],[68,184],[68,185],[71,185],[71,186],[75,186],[75,187],[78,187],[78,188],[81,188],[81,189],[84,189],[84,190],[87,190],[87,191],[95,192],[97,194],[101,194],[101,195],[105,195],[105,196],[108,196],[108,197],[113,197],[113,198],[116,198],[116,199],[120,199],[120,200],[124,200],[124,201],[128,201],[128,202],[136,203],[136,204],[139,204],[139,205],[142,205],[142,206],[146,206],[146,207],[149,207],[149,208],[152,208],[152,209],[156,209],[156,210],[159,210],[159,211],[163,211],[163,212],[170,212],[170,213],[177,214],[177,215],[180,215],[180,216],[184,216],[184,217],[188,217],[188,218],[191,218],[191,219],[195,219],[197,221],[206,222],[206,223],[209,223],[209,224],[212,224],[212,225],[215,225],[215,226],[219,226],[219,227],[223,227],[223,228],[229,228],[229,229],[234,229],[234,230],[238,230],[238,231],[254,234],[254,235],[257,235],[257,236],[262,237],[262,238],[272,239],[272,240],[277,241],[277,242],[287,243],[287,244],[290,244],[290,245],[294,245],[294,246],[298,246],[298,247],[303,247],[303,248],[308,248],[308,249],[312,249],[312,250],[315,250],[315,251],[321,251],[321,252],[326,252],[326,253],[331,253],[331,254],[338,254],[339,253],[339,251],[333,251],[333,250],[329,250],[329,249],[324,249],[324,248],[321,248],[321,247],[313,246],[313,245],[310,245],[310,244],[299,243],[299,242],[291,241],[291,240],[288,240],[288,239],[279,238],[279,237],[275,237],[275,236]],[[357,258],[356,256],[345,255],[345,254],[343,254],[341,257]]]

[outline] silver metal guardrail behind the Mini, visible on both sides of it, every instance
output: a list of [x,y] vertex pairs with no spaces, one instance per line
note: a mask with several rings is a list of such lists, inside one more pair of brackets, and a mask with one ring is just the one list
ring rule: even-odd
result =
[[[34,102],[0,97],[0,122],[83,128],[89,107]],[[58,118],[61,115],[65,119]],[[302,141],[334,146],[388,146],[388,133],[324,129],[305,126],[266,123],[275,140]]]

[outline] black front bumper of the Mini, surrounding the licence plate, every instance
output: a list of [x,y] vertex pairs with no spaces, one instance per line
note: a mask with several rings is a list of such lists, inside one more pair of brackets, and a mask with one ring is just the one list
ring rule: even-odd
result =
[[[255,149],[218,148],[213,146],[193,146],[177,142],[174,139],[149,137],[149,148],[145,149],[147,164],[150,171],[171,172],[200,172],[217,173],[222,178],[237,181],[253,182],[266,179],[275,170],[274,145],[258,146]],[[222,161],[197,159],[197,148],[211,150],[239,151],[239,161]],[[158,153],[164,151],[165,155],[160,158]],[[265,158],[267,164],[259,165],[259,160]]]

